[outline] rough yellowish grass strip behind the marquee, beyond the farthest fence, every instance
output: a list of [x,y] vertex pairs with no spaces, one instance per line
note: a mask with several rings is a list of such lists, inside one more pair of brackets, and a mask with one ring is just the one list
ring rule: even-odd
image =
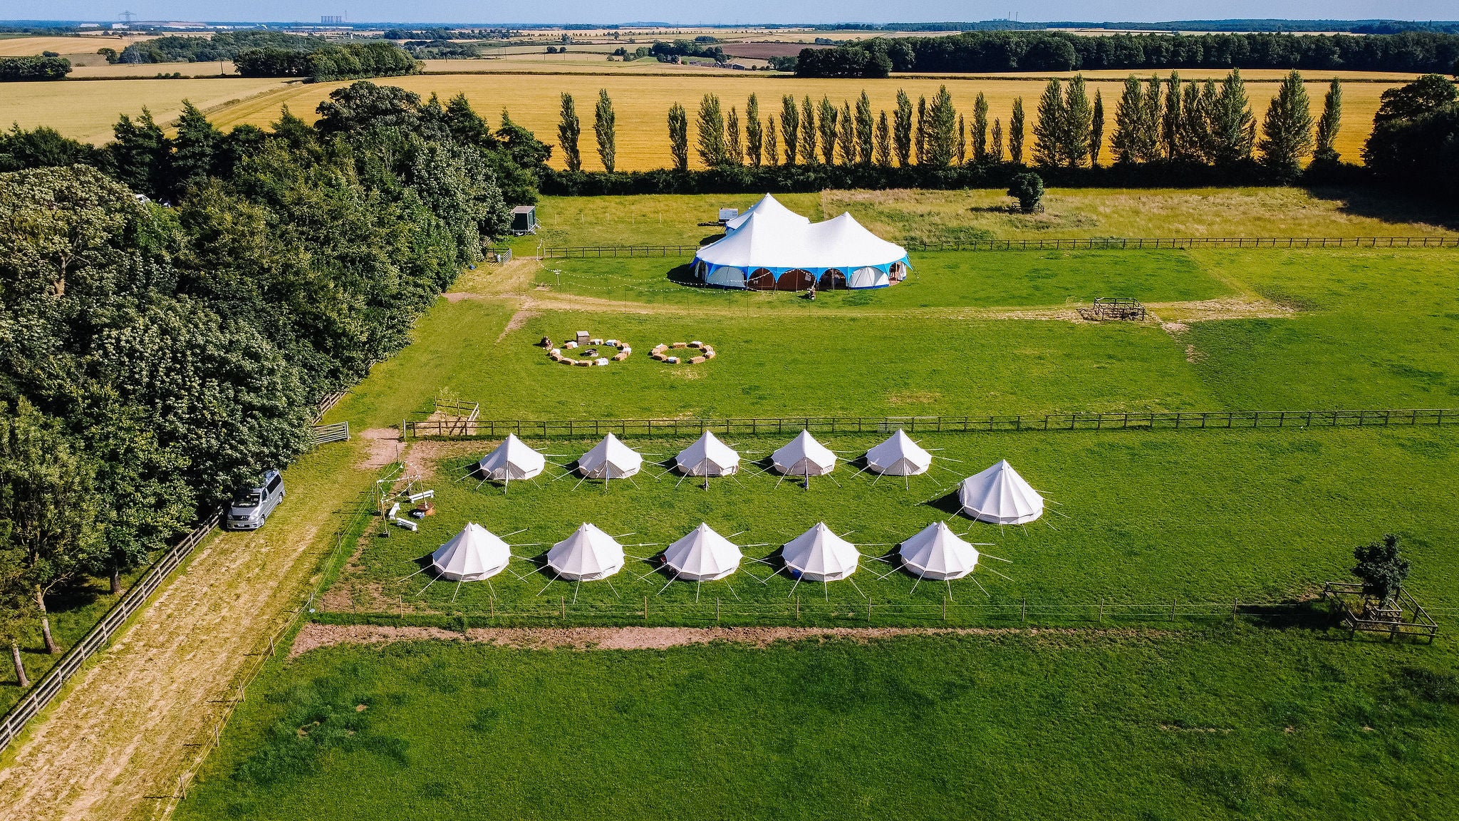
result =
[[[719,207],[746,209],[756,194],[543,197],[543,229],[515,240],[562,245],[696,245],[722,234],[697,222]],[[1002,210],[1001,190],[823,191],[776,194],[820,221],[851,212],[893,241],[957,243],[1067,237],[1423,237],[1452,235],[1452,218],[1361,191],[1303,188],[1049,188],[1045,213]]]

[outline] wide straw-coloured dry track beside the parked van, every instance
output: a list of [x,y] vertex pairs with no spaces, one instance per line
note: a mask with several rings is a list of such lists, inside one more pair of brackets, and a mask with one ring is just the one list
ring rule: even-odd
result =
[[365,451],[356,440],[305,456],[267,526],[198,548],[6,757],[0,818],[152,818],[171,805],[249,654],[298,606],[372,479],[352,469]]

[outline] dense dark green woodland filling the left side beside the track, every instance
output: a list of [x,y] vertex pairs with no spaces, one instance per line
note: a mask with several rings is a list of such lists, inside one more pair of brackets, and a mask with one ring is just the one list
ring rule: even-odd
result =
[[[359,82],[309,126],[175,134],[143,112],[101,148],[0,133],[0,640],[47,597],[147,561],[311,444],[321,396],[416,317],[535,196],[550,148],[464,96]],[[162,200],[174,203],[166,207]]]

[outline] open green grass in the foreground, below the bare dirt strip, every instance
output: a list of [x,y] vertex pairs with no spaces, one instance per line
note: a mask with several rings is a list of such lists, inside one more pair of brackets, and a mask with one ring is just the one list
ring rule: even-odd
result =
[[177,818],[1447,817],[1452,644],[1326,638],[315,650]]

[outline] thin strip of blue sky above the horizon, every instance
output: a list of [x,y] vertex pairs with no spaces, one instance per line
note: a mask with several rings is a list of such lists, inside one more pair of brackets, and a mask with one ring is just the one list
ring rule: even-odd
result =
[[1455,0],[1036,0],[932,1],[902,0],[735,0],[732,3],[665,0],[531,0],[481,3],[465,0],[4,0],[0,18],[117,20],[123,9],[139,19],[165,20],[301,20],[347,15],[350,20],[392,22],[627,22],[750,23],[837,20],[982,20],[1017,15],[1023,20],[1180,20],[1215,18],[1409,19],[1459,18]]

